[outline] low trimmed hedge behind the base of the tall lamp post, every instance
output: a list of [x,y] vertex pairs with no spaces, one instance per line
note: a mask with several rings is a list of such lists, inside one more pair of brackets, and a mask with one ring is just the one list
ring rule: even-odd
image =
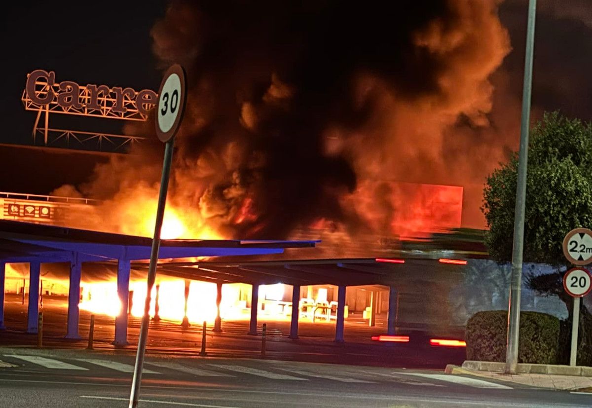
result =
[[[466,323],[466,358],[506,361],[508,312],[480,311]],[[518,362],[557,364],[559,319],[546,313],[520,313]]]

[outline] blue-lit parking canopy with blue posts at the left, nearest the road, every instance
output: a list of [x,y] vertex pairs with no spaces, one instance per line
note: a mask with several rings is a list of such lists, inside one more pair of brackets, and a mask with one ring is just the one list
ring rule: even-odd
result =
[[[310,248],[318,241],[282,240],[162,240],[159,259],[272,255],[285,248]],[[117,292],[128,303],[131,261],[150,258],[152,239],[124,234],[0,220],[0,328],[4,327],[4,281],[7,263],[30,265],[28,329],[37,332],[40,264],[70,262],[66,338],[78,336],[78,303],[82,262],[117,263]],[[115,344],[127,343],[127,313],[115,319]]]

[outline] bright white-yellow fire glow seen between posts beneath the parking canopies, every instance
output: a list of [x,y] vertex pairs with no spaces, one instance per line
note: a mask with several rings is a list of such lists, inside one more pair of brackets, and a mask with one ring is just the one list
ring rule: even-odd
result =
[[[26,275],[26,274],[25,274]],[[7,293],[28,293],[28,280],[21,272],[7,265]],[[53,297],[66,297],[68,282],[53,278],[41,279],[41,294]],[[384,288],[386,291],[386,288]],[[233,283],[222,286],[222,300],[220,316],[227,320],[249,319],[252,307],[252,286],[249,284]],[[370,292],[363,288],[348,293],[348,305],[345,306],[345,317],[349,308],[363,311],[364,319],[369,317],[369,309],[365,307],[366,297]],[[186,304],[185,304],[186,294]],[[269,320],[288,320],[292,314],[292,287],[287,284],[259,285],[258,314]],[[130,298],[126,305],[121,304],[117,295],[115,280],[104,282],[81,283],[81,301],[79,309],[93,314],[115,317],[125,307],[128,314],[141,317],[146,298],[146,282],[143,280],[130,281]],[[382,296],[379,310],[386,310],[388,296]],[[358,307],[356,308],[356,303]],[[299,301],[300,319],[311,322],[334,322],[337,310],[337,286],[310,285],[301,288]],[[67,306],[64,303],[64,306]],[[362,307],[363,306],[363,307]],[[152,291],[150,317],[153,319],[182,322],[184,317],[191,323],[207,321],[214,322],[217,314],[216,284],[211,282],[187,281],[163,277]]]

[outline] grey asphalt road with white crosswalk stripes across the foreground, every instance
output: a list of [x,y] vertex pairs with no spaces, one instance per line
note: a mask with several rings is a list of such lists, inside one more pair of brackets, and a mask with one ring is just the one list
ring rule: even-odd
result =
[[[133,355],[0,348],[0,407],[127,407]],[[436,370],[149,356],[141,407],[590,407],[548,391]],[[2,367],[4,366],[4,367]],[[11,366],[11,367],[7,367]]]

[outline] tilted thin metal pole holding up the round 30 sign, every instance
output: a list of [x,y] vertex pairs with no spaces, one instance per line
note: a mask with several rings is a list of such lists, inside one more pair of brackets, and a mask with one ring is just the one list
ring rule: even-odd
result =
[[171,137],[165,145],[165,160],[162,166],[162,177],[160,178],[160,192],[158,196],[158,208],[156,210],[156,223],[154,227],[154,238],[152,240],[152,250],[150,252],[150,266],[148,269],[148,288],[146,292],[146,304],[144,304],[144,316],[140,326],[140,338],[138,340],[138,350],[136,354],[136,366],[134,367],[134,378],[131,382],[130,408],[138,405],[140,395],[140,381],[142,377],[142,368],[144,366],[144,354],[146,352],[146,338],[148,336],[148,323],[150,322],[150,301],[152,287],[156,279],[156,264],[158,262],[158,251],[160,249],[160,230],[165,216],[166,192],[169,189],[170,166],[173,161],[173,144],[175,138]]

